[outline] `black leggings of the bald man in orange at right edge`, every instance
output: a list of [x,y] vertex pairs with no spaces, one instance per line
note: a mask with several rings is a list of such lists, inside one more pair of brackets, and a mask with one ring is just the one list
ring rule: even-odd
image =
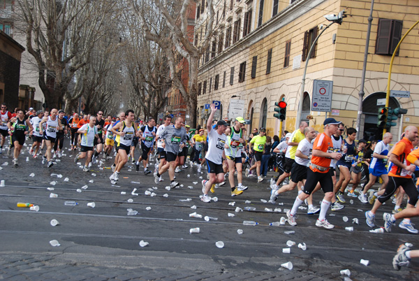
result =
[[403,187],[404,192],[409,196],[409,204],[415,206],[416,202],[418,202],[418,189],[416,189],[416,185],[411,178],[388,177],[388,184],[385,187],[385,192],[383,195],[378,196],[377,200],[380,201],[381,204],[388,201],[400,186]]

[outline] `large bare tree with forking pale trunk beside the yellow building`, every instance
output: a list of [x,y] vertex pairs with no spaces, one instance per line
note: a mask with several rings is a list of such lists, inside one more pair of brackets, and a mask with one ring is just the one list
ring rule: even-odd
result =
[[[145,33],[145,38],[156,42],[166,52],[172,81],[188,105],[191,123],[196,124],[198,60],[205,50],[207,50],[212,40],[214,6],[212,0],[207,1],[207,31],[200,45],[195,46],[193,45],[193,34],[189,34],[188,31],[188,15],[191,13],[192,1],[197,2],[197,0],[131,0],[131,3],[133,10],[135,10],[136,15],[141,20],[141,27]],[[150,13],[155,13],[155,10],[158,10],[163,15],[166,25],[170,30],[169,34],[159,34],[159,32],[156,32],[161,29],[154,26],[152,19],[150,19]],[[189,62],[189,84],[187,89],[182,84],[179,76],[176,75],[175,52],[182,55]]]

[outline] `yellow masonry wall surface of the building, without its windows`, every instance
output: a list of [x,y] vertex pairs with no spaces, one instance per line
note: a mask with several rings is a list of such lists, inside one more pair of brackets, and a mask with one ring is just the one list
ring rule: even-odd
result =
[[[217,73],[222,77],[223,71],[227,71],[229,78],[230,67],[235,66],[234,84],[212,91],[205,95],[198,96],[198,108],[203,103],[219,99],[223,108],[228,108],[230,96],[237,95],[246,101],[245,118],[249,118],[253,108],[253,120],[251,127],[260,125],[260,106],[263,99],[267,99],[267,130],[272,135],[279,130],[279,122],[273,117],[274,103],[282,97],[288,103],[287,118],[284,128],[288,131],[295,129],[295,117],[297,106],[300,102],[300,87],[305,62],[301,61],[302,48],[304,44],[304,31],[318,27],[321,32],[321,25],[329,24],[323,15],[339,13],[345,9],[348,17],[344,22],[332,24],[325,30],[318,40],[316,57],[309,60],[307,68],[307,79],[304,91],[312,96],[313,80],[332,80],[333,100],[332,110],[337,119],[343,121],[347,127],[356,127],[358,103],[361,84],[362,60],[365,50],[365,38],[367,34],[367,17],[371,1],[339,1],[339,0],[307,0],[296,1],[296,3],[284,7],[279,3],[279,14],[273,18],[272,7],[265,1],[263,25],[255,28],[251,34],[230,46],[230,48],[217,53],[217,56],[200,67],[199,82],[210,80]],[[367,72],[365,79],[364,100],[376,92],[385,92],[387,88],[388,66],[390,56],[376,55],[375,43],[378,29],[378,18],[403,20],[402,34],[416,22],[419,14],[418,1],[388,1],[377,0],[374,4],[374,20],[372,21],[372,32],[369,42],[369,55],[367,59]],[[249,3],[249,2],[247,2]],[[255,16],[253,17],[254,27],[257,27],[258,10],[260,1],[253,1]],[[332,38],[336,34],[336,42]],[[291,40],[291,54],[289,66],[284,67],[286,41]],[[392,128],[391,132],[397,135],[409,124],[418,124],[419,119],[416,108],[419,99],[419,36],[412,31],[401,45],[399,57],[396,57],[392,68],[390,89],[406,90],[411,92],[409,99],[397,99],[402,108],[407,108],[408,114],[404,120],[398,121],[398,126]],[[272,49],[271,71],[266,74],[267,51]],[[252,58],[257,56],[256,78],[251,78]],[[246,61],[246,77],[244,82],[237,82],[237,75],[240,63]],[[296,64],[295,64],[296,63]],[[297,66],[300,64],[300,66]],[[222,80],[220,77],[220,80]],[[313,125],[318,131],[323,131],[322,124],[325,113],[310,112]],[[328,113],[330,116],[331,113]],[[371,114],[369,114],[371,115]],[[227,116],[227,110],[223,110],[223,117]],[[363,118],[365,119],[365,115]],[[304,119],[305,116],[302,117]],[[363,128],[363,124],[361,124]]]

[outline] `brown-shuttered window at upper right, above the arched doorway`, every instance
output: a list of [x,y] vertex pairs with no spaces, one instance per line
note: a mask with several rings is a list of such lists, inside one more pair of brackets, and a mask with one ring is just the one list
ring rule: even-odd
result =
[[[377,55],[392,55],[402,38],[401,20],[378,19],[376,50]],[[399,55],[397,52],[396,55]]]

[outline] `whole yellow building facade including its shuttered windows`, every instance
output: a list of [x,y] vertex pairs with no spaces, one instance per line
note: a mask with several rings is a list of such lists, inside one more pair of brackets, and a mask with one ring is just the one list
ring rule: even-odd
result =
[[[220,101],[219,118],[226,119],[230,101],[242,99],[243,117],[250,120],[249,127],[266,127],[268,134],[273,136],[279,131],[279,120],[273,116],[274,103],[284,99],[288,103],[283,125],[285,130],[295,130],[300,102],[303,103],[301,120],[309,122],[318,131],[323,131],[326,114],[344,122],[346,127],[357,127],[358,104],[362,103],[360,138],[379,138],[382,129],[376,127],[380,107],[377,104],[385,98],[387,90],[389,54],[399,38],[419,20],[419,1],[375,1],[365,73],[365,96],[360,101],[358,93],[370,8],[369,0],[291,0],[289,3],[215,1],[217,19],[212,43],[216,48],[210,44],[209,55],[203,55],[199,69],[200,123],[203,124],[207,116],[206,103]],[[309,45],[330,23],[324,15],[337,15],[341,10],[347,14],[343,23],[332,24],[318,39],[315,52],[309,59],[304,99],[300,100]],[[198,43],[200,38],[197,35],[203,32],[201,29],[205,28],[207,20],[205,12],[197,18]],[[229,32],[232,36],[227,43]],[[219,43],[221,40],[222,44]],[[312,110],[314,80],[333,82],[332,106],[328,113]],[[394,139],[397,139],[406,126],[419,124],[418,27],[406,36],[395,57],[390,89],[410,92],[409,97],[390,98],[390,107],[408,110],[396,121],[397,126],[390,130]]]

